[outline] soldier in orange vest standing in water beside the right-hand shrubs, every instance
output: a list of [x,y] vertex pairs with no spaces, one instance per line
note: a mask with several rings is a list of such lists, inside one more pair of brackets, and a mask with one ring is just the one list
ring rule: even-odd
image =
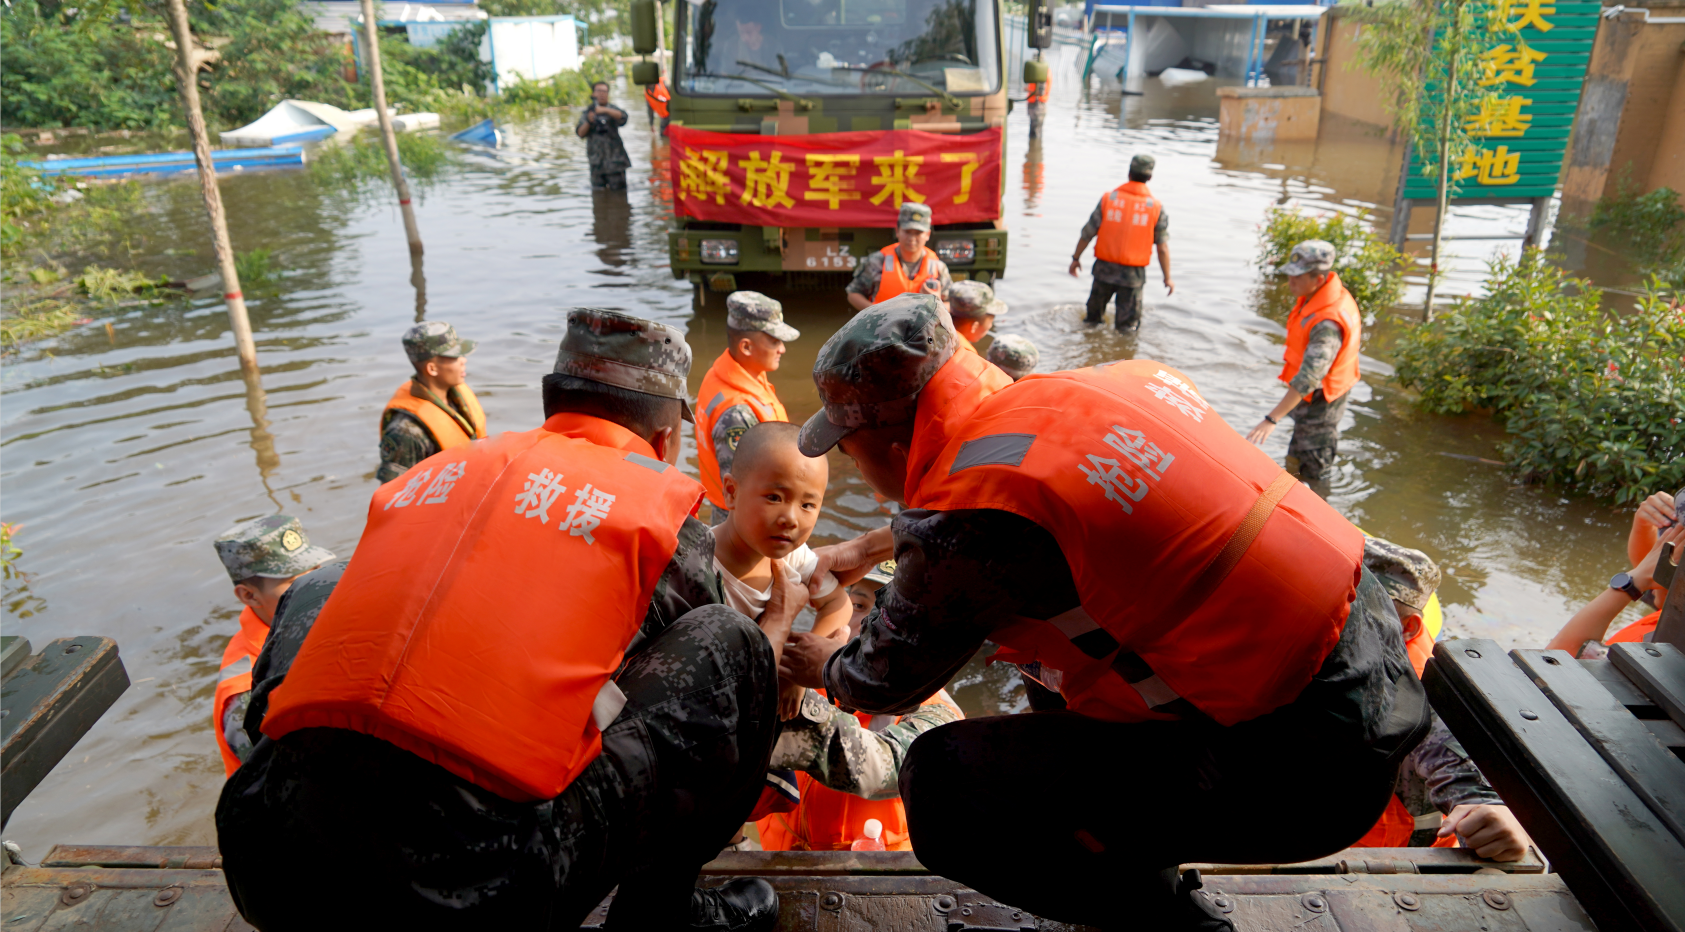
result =
[[[1294,288],[1294,295],[1299,298],[1294,305],[1296,312],[1304,305],[1306,298],[1324,287],[1345,290],[1345,285],[1338,280],[1329,281],[1335,276],[1333,268],[1335,246],[1331,243],[1306,239],[1292,248],[1287,265],[1277,271],[1287,276],[1289,287]],[[1353,315],[1353,329],[1360,327],[1361,324]],[[1289,340],[1294,337],[1292,320],[1289,319]],[[1351,334],[1351,339],[1360,340],[1361,334]],[[1340,448],[1340,421],[1346,416],[1346,399],[1351,398],[1350,391],[1343,391],[1336,398],[1328,398],[1328,393],[1323,391],[1323,383],[1333,371],[1335,361],[1346,342],[1346,332],[1335,320],[1319,320],[1311,327],[1304,340],[1304,356],[1299,369],[1291,379],[1284,376],[1287,394],[1247,433],[1247,440],[1264,443],[1264,438],[1276,430],[1281,418],[1291,415],[1292,438],[1287,442],[1287,458],[1291,460],[1287,465],[1289,469],[1297,465],[1299,479],[1316,482],[1335,465],[1335,453]],[[1304,401],[1304,398],[1309,398],[1309,401]]]

